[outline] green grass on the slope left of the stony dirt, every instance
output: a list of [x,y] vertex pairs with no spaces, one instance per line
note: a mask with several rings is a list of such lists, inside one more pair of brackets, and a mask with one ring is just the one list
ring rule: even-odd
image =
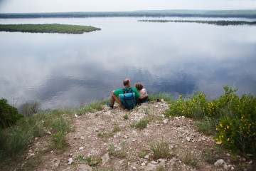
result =
[[[9,165],[10,160],[22,160],[20,157],[27,150],[29,140],[43,137],[47,132],[49,138],[49,150],[63,150],[68,147],[65,136],[75,130],[72,126],[75,113],[85,114],[102,110],[106,100],[93,102],[79,109],[57,109],[57,110],[38,110],[37,115],[18,120],[16,125],[6,129],[0,129],[0,160],[1,165]],[[89,110],[87,110],[89,109]],[[113,130],[118,131],[116,126]],[[114,134],[114,133],[112,133]],[[36,161],[36,162],[35,162]],[[31,159],[28,167],[37,165],[40,160]],[[1,166],[0,165],[0,166]],[[11,167],[11,165],[10,165]]]

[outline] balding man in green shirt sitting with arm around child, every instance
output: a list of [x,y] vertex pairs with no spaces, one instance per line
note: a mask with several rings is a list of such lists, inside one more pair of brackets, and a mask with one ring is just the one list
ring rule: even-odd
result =
[[[129,78],[125,78],[124,79],[124,88],[129,89],[130,86],[131,86],[131,81],[129,80]],[[132,88],[132,90],[135,93],[135,98],[143,99],[143,98],[148,97],[147,94],[140,95],[136,88]],[[121,106],[121,108],[125,109],[124,105],[122,105],[123,99],[119,98],[119,94],[122,94],[122,93],[123,93],[122,89],[113,90],[111,98],[110,98],[110,103],[107,102],[107,105],[110,106],[110,108],[114,108],[114,101],[116,101]]]

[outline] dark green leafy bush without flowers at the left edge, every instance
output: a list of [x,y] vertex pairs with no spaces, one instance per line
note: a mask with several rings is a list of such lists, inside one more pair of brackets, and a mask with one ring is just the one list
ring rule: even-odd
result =
[[7,103],[7,100],[0,100],[0,128],[7,128],[14,125],[17,120],[23,118],[18,110]]

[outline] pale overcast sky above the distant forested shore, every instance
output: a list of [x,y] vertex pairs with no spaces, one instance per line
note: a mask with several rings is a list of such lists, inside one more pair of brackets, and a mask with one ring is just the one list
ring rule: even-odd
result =
[[256,9],[256,0],[0,0],[0,13]]

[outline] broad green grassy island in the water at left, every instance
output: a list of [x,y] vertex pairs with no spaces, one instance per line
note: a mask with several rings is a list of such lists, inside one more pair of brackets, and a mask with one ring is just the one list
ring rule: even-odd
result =
[[0,24],[0,31],[8,32],[81,34],[98,30],[101,29],[93,26],[78,26],[67,24]]

